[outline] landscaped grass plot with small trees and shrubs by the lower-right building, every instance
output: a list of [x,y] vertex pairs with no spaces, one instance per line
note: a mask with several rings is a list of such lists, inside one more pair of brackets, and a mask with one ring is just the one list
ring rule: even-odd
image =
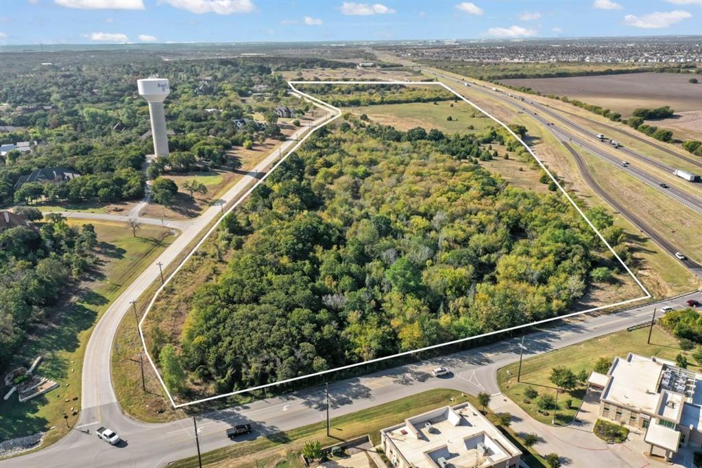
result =
[[[636,353],[675,361],[680,355],[690,369],[700,369],[692,363],[700,364],[702,360],[693,358],[695,353],[691,349],[682,350],[678,340],[662,327],[653,328],[650,344],[647,344],[648,335],[648,327],[623,330],[533,358],[525,357],[520,382],[517,382],[519,363],[512,363],[498,370],[498,384],[503,394],[529,416],[544,424],[563,425],[569,424],[580,408],[590,373],[595,370],[607,374],[616,356]],[[525,356],[529,356],[532,345],[524,342],[524,346]]]

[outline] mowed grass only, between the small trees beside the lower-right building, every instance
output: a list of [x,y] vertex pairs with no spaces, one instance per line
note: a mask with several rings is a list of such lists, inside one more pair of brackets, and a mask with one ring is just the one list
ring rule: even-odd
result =
[[[675,360],[677,353],[687,356],[690,363],[696,361],[691,358],[690,353],[681,351],[677,339],[671,336],[662,328],[654,327],[651,344],[647,344],[649,328],[644,327],[628,332],[616,332],[604,337],[590,339],[586,342],[567,346],[566,348],[550,351],[534,358],[525,358],[522,363],[521,382],[517,383],[517,371],[519,363],[513,363],[501,368],[497,372],[497,382],[503,394],[517,403],[522,410],[529,413],[534,419],[551,424],[553,411],[549,410],[548,416],[537,411],[536,399],[531,403],[524,403],[524,391],[532,386],[538,391],[539,396],[549,394],[556,396],[556,388],[549,380],[551,369],[559,365],[565,365],[576,374],[585,370],[590,375],[598,358],[613,360],[616,356],[625,358],[629,352],[642,356],[659,356],[661,358]],[[529,342],[524,342],[524,346],[529,349]],[[527,351],[528,352],[528,351]],[[528,355],[527,355],[528,356]],[[689,365],[690,369],[699,370],[696,365]],[[571,393],[560,393],[558,396],[557,424],[567,424],[573,419],[585,394],[585,386],[581,385]],[[571,408],[566,408],[564,402],[571,398]]]

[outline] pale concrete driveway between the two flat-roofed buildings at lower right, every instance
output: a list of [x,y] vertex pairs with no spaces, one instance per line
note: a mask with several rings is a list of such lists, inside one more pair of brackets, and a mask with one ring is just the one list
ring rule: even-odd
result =
[[[564,466],[572,468],[663,468],[670,464],[659,462],[644,455],[647,445],[644,434],[632,431],[626,443],[608,444],[592,434],[592,425],[597,420],[597,398],[599,395],[588,392],[581,412],[573,424],[567,427],[552,427],[530,417],[503,394],[492,398],[490,408],[495,412],[509,412],[512,415],[512,429],[517,434],[534,433],[541,438],[534,448],[538,453],[557,453]],[[577,460],[577,461],[576,461]],[[682,465],[675,465],[680,466]]]

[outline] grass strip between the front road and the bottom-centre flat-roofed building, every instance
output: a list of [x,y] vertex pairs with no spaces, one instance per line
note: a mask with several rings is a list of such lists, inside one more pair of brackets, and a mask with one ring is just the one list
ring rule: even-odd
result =
[[[211,467],[303,467],[300,460],[300,449],[305,441],[317,440],[322,446],[338,443],[339,439],[350,440],[368,434],[374,445],[380,443],[380,429],[390,427],[402,422],[406,417],[420,415],[445,405],[457,405],[470,401],[479,407],[476,398],[464,396],[459,391],[436,389],[420,394],[402,398],[391,403],[378,405],[368,410],[362,410],[331,419],[331,434],[326,437],[326,424],[319,422],[310,424],[291,431],[280,432],[270,436],[256,438],[253,441],[232,444],[225,448],[212,450],[202,455],[204,465]],[[496,417],[488,413],[488,419],[493,423]],[[507,430],[507,436],[515,443],[517,448],[524,452],[522,459],[529,467],[538,468],[545,466],[543,459],[530,453],[524,448],[515,433]],[[180,460],[169,467],[186,468],[197,467],[197,457]]]

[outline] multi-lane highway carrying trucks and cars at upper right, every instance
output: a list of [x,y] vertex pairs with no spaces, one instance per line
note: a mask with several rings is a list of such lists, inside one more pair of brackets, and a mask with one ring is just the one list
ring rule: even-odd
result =
[[[459,84],[461,86],[464,86],[463,81],[461,81],[461,79],[456,79],[449,75],[442,74],[439,72],[433,72],[430,70],[428,70],[428,72],[442,77],[444,79],[450,80],[451,82],[455,82],[456,84]],[[594,135],[593,138],[590,139],[583,138],[582,136],[576,134],[574,131],[569,129],[569,127],[588,135],[591,135],[592,131],[584,129],[582,126],[578,126],[577,124],[574,124],[573,122],[570,122],[569,120],[560,117],[555,112],[548,108],[545,108],[542,105],[534,104],[533,101],[530,103],[528,97],[526,98],[527,100],[524,101],[517,100],[516,98],[510,98],[506,96],[505,93],[484,89],[484,87],[480,86],[479,84],[472,85],[468,89],[477,90],[478,92],[482,93],[488,93],[492,98],[500,100],[502,103],[505,103],[512,108],[515,108],[519,111],[528,112],[529,115],[531,115],[531,117],[534,117],[534,119],[543,124],[544,128],[548,129],[551,132],[551,134],[553,134],[559,140],[572,141],[574,143],[577,143],[583,149],[588,150],[589,152],[592,152],[592,154],[601,157],[603,160],[606,160],[610,164],[613,164],[614,167],[616,167],[617,169],[628,172],[630,175],[635,176],[643,183],[646,183],[647,186],[658,190],[659,192],[663,193],[663,195],[672,198],[676,202],[679,202],[680,204],[684,205],[685,207],[692,209],[694,212],[702,214],[701,196],[692,195],[687,190],[682,190],[675,185],[671,185],[671,183],[667,183],[668,188],[661,187],[661,178],[654,174],[651,174],[643,166],[638,166],[636,164],[628,164],[627,167],[622,167],[621,162],[624,159],[623,157],[612,155],[609,152],[609,148],[602,148],[603,145],[609,145],[609,143],[597,140],[597,138],[594,138]],[[464,93],[465,91],[461,90],[457,92]],[[527,110],[527,108],[530,109]],[[538,112],[536,112],[537,110]],[[544,113],[550,115],[551,117],[553,117],[553,119],[556,119],[559,122],[559,125],[552,124],[552,119],[545,118],[545,116],[543,115]],[[638,157],[641,160],[646,160],[650,164],[653,164],[654,166],[667,172],[668,174],[673,172],[673,169],[668,167],[667,165],[651,160],[651,158],[646,157],[644,155],[640,155],[639,153],[633,152],[632,150],[628,150],[626,148],[618,148],[618,150],[616,151],[622,150],[625,150],[625,152],[631,156]],[[682,184],[689,182],[683,181],[683,179],[681,178],[679,183]],[[694,187],[697,188],[698,185],[699,184],[694,184]]]

